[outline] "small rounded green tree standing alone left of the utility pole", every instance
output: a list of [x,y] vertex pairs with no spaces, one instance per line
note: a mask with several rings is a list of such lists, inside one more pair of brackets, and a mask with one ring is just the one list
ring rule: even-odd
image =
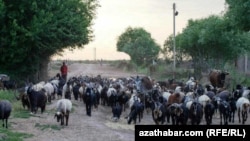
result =
[[116,46],[118,51],[127,53],[131,61],[137,65],[151,64],[154,59],[158,58],[160,52],[160,46],[143,28],[128,27],[119,36]]

